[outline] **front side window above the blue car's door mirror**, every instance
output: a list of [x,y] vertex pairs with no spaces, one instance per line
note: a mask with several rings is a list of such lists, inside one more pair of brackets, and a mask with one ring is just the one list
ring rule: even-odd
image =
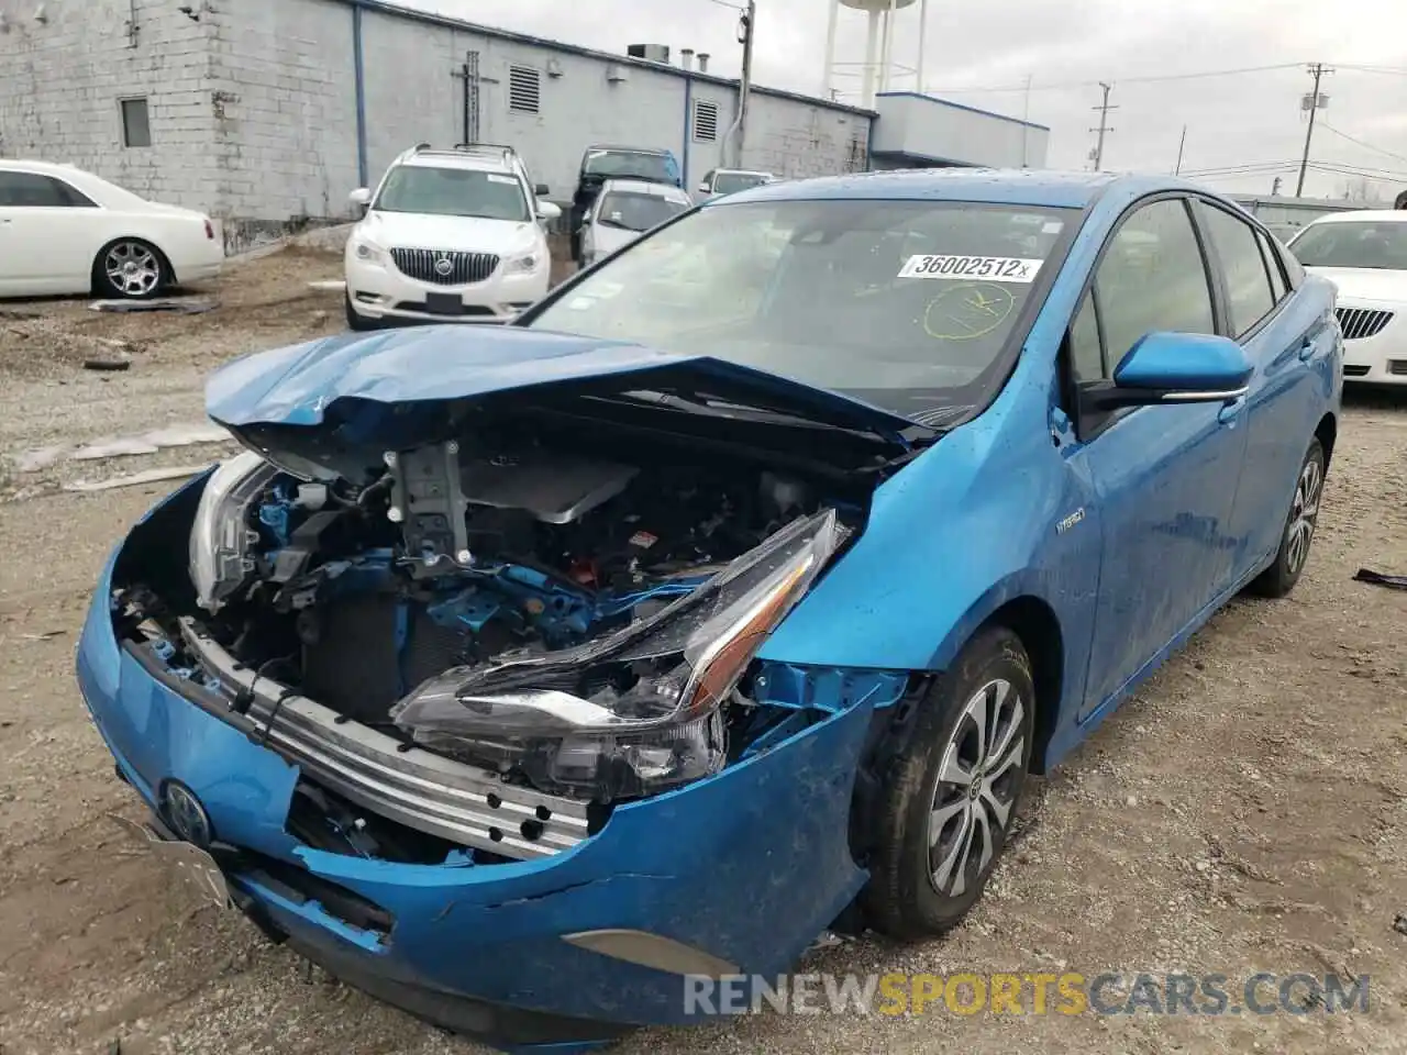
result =
[[1148,333],[1216,333],[1202,246],[1180,198],[1144,205],[1120,225],[1095,291],[1110,370]]

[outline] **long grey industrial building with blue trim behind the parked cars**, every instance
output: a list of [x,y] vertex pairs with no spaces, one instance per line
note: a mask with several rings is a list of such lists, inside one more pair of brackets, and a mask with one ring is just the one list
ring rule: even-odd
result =
[[[235,241],[348,215],[416,142],[514,145],[556,200],[590,143],[720,160],[739,82],[381,0],[0,0],[0,156],[62,160],[203,208]],[[913,93],[875,110],[753,87],[732,163],[784,176],[1040,167],[1048,129]]]

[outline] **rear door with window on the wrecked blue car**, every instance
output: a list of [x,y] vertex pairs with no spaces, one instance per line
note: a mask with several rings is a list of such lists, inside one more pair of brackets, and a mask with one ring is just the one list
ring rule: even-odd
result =
[[1228,336],[1255,367],[1247,394],[1247,471],[1227,523],[1218,578],[1230,587],[1279,546],[1285,516],[1321,395],[1316,369],[1332,352],[1330,318],[1293,297],[1280,253],[1247,219],[1197,203],[1199,222],[1220,260]]

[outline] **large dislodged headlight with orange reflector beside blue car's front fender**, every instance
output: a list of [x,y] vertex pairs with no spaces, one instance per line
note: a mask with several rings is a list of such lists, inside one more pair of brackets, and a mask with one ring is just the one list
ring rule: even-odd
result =
[[577,648],[456,668],[398,703],[415,741],[545,792],[598,802],[708,776],[720,705],[843,539],[827,509],[771,536],[694,594]]

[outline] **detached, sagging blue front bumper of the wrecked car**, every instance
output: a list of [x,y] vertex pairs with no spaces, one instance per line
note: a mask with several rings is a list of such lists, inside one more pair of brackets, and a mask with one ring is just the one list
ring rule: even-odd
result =
[[[98,580],[77,677],[120,771],[153,810],[166,782],[189,788],[235,854],[227,881],[246,913],[412,1014],[501,1048],[695,1021],[687,973],[785,971],[865,881],[847,833],[874,696],[713,778],[618,807],[550,857],[408,865],[312,850],[286,830],[298,765],[115,639],[117,560]],[[280,882],[267,878],[274,864]],[[356,926],[328,890],[390,924]],[[598,931],[696,957],[661,969],[658,957],[644,966],[567,940]]]

